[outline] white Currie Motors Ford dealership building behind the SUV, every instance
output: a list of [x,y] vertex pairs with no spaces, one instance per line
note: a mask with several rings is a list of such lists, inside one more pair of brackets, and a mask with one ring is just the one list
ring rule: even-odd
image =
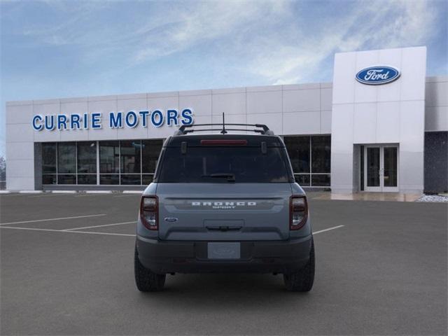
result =
[[304,188],[448,190],[448,77],[426,47],[337,53],[332,83],[7,102],[6,188],[144,188],[164,139],[222,113],[280,135]]

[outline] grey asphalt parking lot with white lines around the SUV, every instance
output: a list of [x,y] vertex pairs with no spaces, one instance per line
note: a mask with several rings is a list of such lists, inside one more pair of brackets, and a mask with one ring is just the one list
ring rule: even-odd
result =
[[1,335],[447,334],[447,204],[311,200],[316,280],[302,294],[270,274],[176,274],[140,293],[138,203],[1,195]]

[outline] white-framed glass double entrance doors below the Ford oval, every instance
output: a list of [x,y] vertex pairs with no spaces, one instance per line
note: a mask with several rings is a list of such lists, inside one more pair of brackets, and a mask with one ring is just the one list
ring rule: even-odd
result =
[[398,191],[397,146],[365,146],[364,162],[365,191]]

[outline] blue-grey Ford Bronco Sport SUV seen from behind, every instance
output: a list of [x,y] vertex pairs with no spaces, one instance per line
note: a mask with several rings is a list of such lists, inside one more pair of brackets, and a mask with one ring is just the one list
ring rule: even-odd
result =
[[[193,129],[215,125],[183,125],[163,144],[141,196],[137,288],[161,290],[166,274],[176,272],[258,272],[283,274],[288,290],[311,290],[307,197],[283,141],[260,124],[223,123],[221,134]],[[244,132],[229,134],[229,125]]]

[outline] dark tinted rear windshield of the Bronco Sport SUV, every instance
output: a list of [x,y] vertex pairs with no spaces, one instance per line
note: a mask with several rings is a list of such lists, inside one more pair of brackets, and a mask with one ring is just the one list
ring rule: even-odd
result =
[[284,183],[288,176],[285,148],[179,147],[165,148],[159,167],[162,183]]

